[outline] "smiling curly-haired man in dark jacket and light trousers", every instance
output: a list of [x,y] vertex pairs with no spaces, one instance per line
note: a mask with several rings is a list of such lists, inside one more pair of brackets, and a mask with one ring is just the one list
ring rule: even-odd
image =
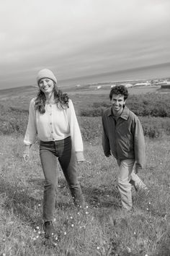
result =
[[109,93],[112,103],[102,116],[102,146],[104,155],[114,155],[117,159],[118,189],[122,208],[131,210],[131,184],[135,189],[148,191],[146,185],[138,177],[138,171],[145,164],[145,140],[143,128],[135,114],[125,106],[128,90],[117,85]]

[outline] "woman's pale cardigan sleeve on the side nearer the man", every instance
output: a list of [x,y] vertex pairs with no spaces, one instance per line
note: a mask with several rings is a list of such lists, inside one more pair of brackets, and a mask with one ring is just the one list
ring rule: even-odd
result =
[[77,161],[84,161],[84,145],[81,137],[81,131],[79,128],[79,123],[76,118],[76,113],[73,107],[73,103],[71,99],[68,103],[69,108],[67,109],[68,113],[68,122],[70,125],[70,134],[71,134],[71,142],[73,145],[73,150],[76,154]]

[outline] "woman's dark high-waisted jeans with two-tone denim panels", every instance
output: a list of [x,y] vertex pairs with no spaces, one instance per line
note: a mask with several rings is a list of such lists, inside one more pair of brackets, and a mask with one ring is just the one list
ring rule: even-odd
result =
[[68,182],[74,203],[79,206],[83,204],[81,187],[76,173],[76,159],[71,147],[71,137],[50,142],[40,141],[40,160],[45,176],[42,211],[44,221],[53,221],[54,218],[58,185],[57,158]]

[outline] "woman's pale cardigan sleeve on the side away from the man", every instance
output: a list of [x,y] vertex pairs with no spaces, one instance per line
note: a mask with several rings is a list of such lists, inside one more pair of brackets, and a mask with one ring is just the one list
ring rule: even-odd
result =
[[29,116],[27,129],[24,135],[24,145],[32,145],[37,135],[36,117],[35,117],[35,101],[34,98],[30,101]]

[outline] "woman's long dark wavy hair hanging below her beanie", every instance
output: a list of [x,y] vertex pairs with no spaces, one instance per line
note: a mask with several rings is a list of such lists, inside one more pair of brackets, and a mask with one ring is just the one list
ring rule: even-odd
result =
[[[54,93],[54,101],[58,108],[68,108],[68,94],[63,93],[61,90],[58,89],[57,85],[55,82],[54,83],[54,88],[53,88],[53,93]],[[45,94],[42,92],[42,90],[39,90],[37,93],[37,97],[35,98],[35,110],[40,111],[40,114],[45,113]]]

